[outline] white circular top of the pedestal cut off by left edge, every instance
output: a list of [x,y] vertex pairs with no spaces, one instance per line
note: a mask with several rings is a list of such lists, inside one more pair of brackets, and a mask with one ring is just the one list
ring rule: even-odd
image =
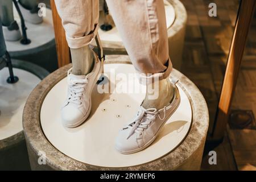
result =
[[28,95],[41,81],[40,78],[23,69],[13,68],[19,77],[15,84],[8,84],[9,69],[0,71],[0,140],[22,131],[22,113]]

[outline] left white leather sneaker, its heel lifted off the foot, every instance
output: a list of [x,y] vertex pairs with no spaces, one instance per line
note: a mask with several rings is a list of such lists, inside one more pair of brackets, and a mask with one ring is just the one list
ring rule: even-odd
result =
[[91,94],[94,85],[103,72],[103,62],[94,53],[94,67],[88,75],[73,75],[68,71],[68,96],[61,109],[61,118],[66,127],[81,125],[92,108]]

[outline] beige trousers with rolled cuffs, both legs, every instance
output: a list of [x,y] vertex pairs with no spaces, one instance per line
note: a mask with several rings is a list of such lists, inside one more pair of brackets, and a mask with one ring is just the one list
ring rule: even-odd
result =
[[[146,78],[170,75],[166,15],[163,0],[107,0],[115,26],[137,70]],[[55,0],[68,46],[88,45],[98,31],[98,0]],[[143,79],[145,78],[145,79]]]

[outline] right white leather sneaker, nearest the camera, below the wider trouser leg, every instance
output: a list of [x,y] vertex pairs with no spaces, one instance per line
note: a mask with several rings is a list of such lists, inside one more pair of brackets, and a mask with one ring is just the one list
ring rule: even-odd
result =
[[134,121],[119,131],[115,140],[115,148],[121,154],[133,154],[154,142],[164,124],[180,104],[180,94],[176,83],[177,80],[172,80],[175,92],[170,104],[160,110],[144,109],[141,106]]

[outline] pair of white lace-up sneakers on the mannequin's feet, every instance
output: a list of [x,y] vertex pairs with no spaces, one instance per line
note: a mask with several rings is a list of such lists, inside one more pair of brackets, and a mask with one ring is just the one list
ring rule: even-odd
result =
[[[97,82],[98,76],[103,71],[103,62],[94,53],[94,67],[86,76],[73,75],[72,69],[68,71],[68,96],[61,117],[66,127],[81,125],[92,107],[91,93]],[[180,104],[179,90],[176,87],[177,80],[172,80],[175,92],[174,98],[163,109],[144,109],[140,107],[134,120],[119,131],[115,140],[115,148],[121,154],[133,154],[150,146],[158,136],[160,129],[167,122]]]

